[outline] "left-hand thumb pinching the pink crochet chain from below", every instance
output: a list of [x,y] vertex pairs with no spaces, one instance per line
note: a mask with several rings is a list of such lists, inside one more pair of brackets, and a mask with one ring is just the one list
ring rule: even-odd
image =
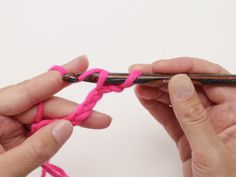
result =
[[[69,121],[49,124],[27,138],[24,143],[0,156],[0,176],[26,176],[48,161],[70,137]],[[11,170],[9,170],[10,167]]]

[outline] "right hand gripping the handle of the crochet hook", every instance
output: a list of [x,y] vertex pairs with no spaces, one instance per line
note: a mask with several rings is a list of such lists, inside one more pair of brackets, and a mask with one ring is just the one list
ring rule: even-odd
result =
[[[219,65],[194,58],[134,65],[146,73],[228,73]],[[236,89],[196,86],[184,74],[167,87],[136,87],[141,104],[176,142],[185,177],[235,177]],[[172,105],[171,105],[172,104]]]

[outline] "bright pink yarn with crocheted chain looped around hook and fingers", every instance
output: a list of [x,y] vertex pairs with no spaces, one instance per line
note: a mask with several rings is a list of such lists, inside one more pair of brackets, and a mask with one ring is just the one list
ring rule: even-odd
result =
[[[53,66],[50,70],[56,70],[58,71],[61,75],[64,75],[68,73],[63,67],[61,66]],[[94,73],[99,73],[99,79],[97,82],[96,87],[89,92],[87,95],[86,99],[83,101],[82,104],[80,104],[74,112],[71,114],[60,117],[60,118],[50,118],[48,119],[43,115],[44,113],[44,103],[41,102],[38,105],[38,112],[35,118],[34,123],[31,125],[31,132],[30,134],[35,133],[37,130],[42,128],[43,126],[46,126],[55,120],[68,120],[70,121],[74,126],[75,125],[81,125],[83,121],[85,121],[89,115],[91,114],[93,108],[95,107],[96,103],[102,98],[102,96],[105,93],[110,93],[110,92],[121,92],[125,88],[128,88],[133,85],[134,81],[138,76],[141,75],[141,72],[139,71],[132,71],[126,81],[120,85],[105,85],[106,78],[108,76],[108,72],[103,70],[103,69],[91,69],[86,72],[84,72],[82,75],[78,77],[79,81],[85,80],[88,76],[94,74]],[[63,169],[60,167],[57,167],[49,162],[44,163],[42,166],[42,174],[41,177],[45,177],[46,174],[50,174],[53,177],[69,177]]]

